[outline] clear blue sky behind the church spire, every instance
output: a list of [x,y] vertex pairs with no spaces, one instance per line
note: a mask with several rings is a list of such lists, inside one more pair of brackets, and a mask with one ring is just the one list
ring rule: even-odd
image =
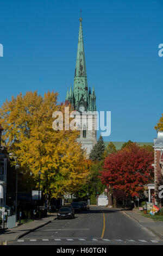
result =
[[[0,105],[20,92],[73,84],[82,8],[89,87],[111,111],[105,141],[153,142],[162,113],[162,0],[8,0],[0,3]],[[99,135],[99,132],[98,132]]]

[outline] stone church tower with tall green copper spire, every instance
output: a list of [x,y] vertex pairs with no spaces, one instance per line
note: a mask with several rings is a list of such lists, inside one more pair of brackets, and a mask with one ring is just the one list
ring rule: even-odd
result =
[[[82,148],[85,148],[87,154],[89,154],[93,145],[97,142],[96,95],[94,86],[92,93],[91,89],[88,90],[87,86],[82,17],[80,17],[79,21],[78,50],[73,90],[72,86],[70,87],[70,91],[67,89],[66,101],[70,102],[72,108],[80,113],[76,118],[80,119],[81,115],[84,116],[85,121],[83,123],[79,121],[80,125],[78,125],[78,129],[80,130],[80,137],[77,141],[82,143]],[[92,129],[88,127],[89,120],[92,120]]]

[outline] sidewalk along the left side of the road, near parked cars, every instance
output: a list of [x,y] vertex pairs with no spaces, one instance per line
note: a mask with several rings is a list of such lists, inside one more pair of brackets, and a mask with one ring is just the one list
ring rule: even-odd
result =
[[41,218],[40,220],[34,220],[32,222],[29,222],[27,224],[18,225],[15,228],[7,229],[0,233],[0,243],[7,241],[14,241],[22,236],[32,232],[33,230],[37,228],[41,228],[44,225],[52,222],[57,217],[57,213],[48,215],[48,217]]

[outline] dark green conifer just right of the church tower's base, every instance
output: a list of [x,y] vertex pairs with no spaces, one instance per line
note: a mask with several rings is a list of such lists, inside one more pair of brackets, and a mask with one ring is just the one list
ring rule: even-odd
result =
[[94,147],[91,150],[90,160],[101,161],[104,158],[103,157],[104,151],[105,151],[105,144],[103,141],[103,137],[100,136],[98,139],[98,142],[94,145]]

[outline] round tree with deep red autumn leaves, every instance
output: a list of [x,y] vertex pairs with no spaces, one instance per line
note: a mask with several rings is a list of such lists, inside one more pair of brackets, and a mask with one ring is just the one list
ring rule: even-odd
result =
[[139,196],[143,185],[153,178],[153,152],[132,143],[104,160],[101,180],[106,187],[122,191],[126,196]]

